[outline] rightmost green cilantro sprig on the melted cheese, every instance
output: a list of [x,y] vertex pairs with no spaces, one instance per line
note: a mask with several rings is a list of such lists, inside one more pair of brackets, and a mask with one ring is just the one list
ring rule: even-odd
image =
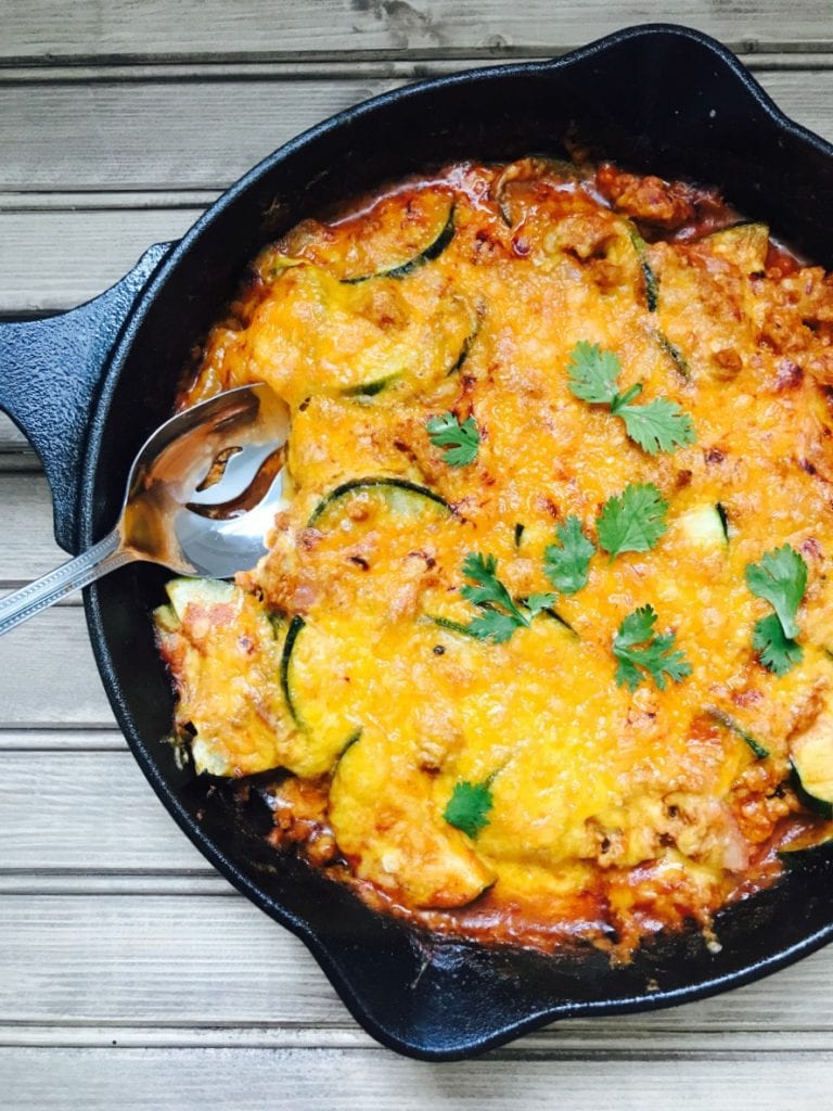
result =
[[752,647],[765,668],[783,675],[804,657],[795,640],[801,631],[795,614],[806,590],[807,565],[790,544],[773,548],[756,563],[746,564],[746,585],[775,611],[755,622]]

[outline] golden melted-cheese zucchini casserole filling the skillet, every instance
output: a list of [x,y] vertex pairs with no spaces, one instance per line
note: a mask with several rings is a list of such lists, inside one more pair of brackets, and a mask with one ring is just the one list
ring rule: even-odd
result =
[[[214,595],[174,584],[158,625],[198,770],[291,773],[269,788],[275,844],[325,830],[318,862],[434,929],[624,952],[827,832],[790,760],[833,731],[833,282],[733,222],[713,191],[526,159],[405,182],[261,253],[184,401],[265,381],[289,403],[288,506],[260,567]],[[580,341],[695,441],[650,454],[574,396]],[[465,466],[429,436],[445,412],[476,426]],[[466,634],[470,553],[516,600],[552,591],[556,524],[598,547],[630,483],[668,502],[650,550],[596,551],[504,642]],[[779,675],[745,569],[784,544],[809,582]],[[612,643],[648,604],[691,673],[632,691]],[[469,832],[448,820],[460,784],[489,799]]]

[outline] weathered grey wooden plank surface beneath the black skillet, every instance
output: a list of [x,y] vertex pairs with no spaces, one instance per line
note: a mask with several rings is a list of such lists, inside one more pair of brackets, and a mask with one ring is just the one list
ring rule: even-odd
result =
[[[789,114],[833,139],[830,0],[0,0],[0,318],[94,296],[253,162],[349,104],[645,20],[716,36]],[[61,558],[50,519],[38,461],[0,417],[0,592]],[[77,601],[0,640],[11,1111],[819,1111],[832,989],[830,950],[712,1000],[563,1022],[475,1062],[398,1058],[163,812],[114,727]]]

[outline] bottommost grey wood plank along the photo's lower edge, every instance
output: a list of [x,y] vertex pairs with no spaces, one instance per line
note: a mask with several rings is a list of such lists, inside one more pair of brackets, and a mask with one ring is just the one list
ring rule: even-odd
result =
[[[509,1058],[509,1059],[508,1059]],[[726,1054],[661,1059],[512,1061],[490,1055],[425,1064],[373,1050],[2,1051],[0,1070],[19,1111],[66,1111],[68,1092],[86,1111],[241,1111],[290,1102],[315,1111],[453,1108],[593,1108],[593,1111],[817,1111],[830,1095],[830,1053]],[[789,1080],[786,1079],[789,1078]],[[789,1092],[789,1102],[784,1095]],[[754,1102],[751,1104],[750,1100]]]

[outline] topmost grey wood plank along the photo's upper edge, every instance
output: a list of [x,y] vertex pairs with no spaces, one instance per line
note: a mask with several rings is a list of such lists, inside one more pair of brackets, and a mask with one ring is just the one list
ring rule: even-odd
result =
[[478,51],[548,52],[651,19],[681,22],[745,49],[777,44],[826,47],[830,9],[823,0],[790,10],[777,0],[685,3],[665,0],[646,9],[633,0],[503,0],[460,3],[384,3],[379,0],[202,0],[193,4],[137,0],[7,0],[2,56],[56,58],[332,57],[342,51],[411,51],[420,54]]

